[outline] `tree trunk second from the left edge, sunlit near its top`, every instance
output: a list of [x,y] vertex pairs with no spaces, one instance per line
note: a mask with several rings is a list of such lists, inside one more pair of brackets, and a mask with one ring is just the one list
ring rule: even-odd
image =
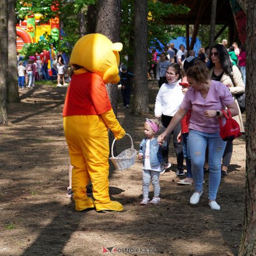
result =
[[19,102],[19,86],[16,55],[15,0],[8,1],[8,67],[7,101]]

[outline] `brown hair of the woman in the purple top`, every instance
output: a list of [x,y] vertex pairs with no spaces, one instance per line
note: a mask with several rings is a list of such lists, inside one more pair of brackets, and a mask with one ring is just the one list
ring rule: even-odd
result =
[[207,83],[209,79],[209,70],[205,63],[197,61],[192,67],[188,68],[187,77],[195,79],[197,82]]

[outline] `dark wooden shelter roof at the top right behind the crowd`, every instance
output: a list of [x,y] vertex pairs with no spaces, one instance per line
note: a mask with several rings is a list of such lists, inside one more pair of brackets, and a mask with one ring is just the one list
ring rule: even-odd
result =
[[[200,15],[200,24],[210,24],[211,0],[160,0],[173,5],[186,5],[191,9],[187,14],[170,15],[164,18],[166,24],[195,24]],[[229,24],[234,17],[229,0],[218,0],[216,24]]]

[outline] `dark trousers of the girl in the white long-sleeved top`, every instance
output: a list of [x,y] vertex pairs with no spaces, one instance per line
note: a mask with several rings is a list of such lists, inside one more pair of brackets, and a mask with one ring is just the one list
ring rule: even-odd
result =
[[[168,117],[168,115],[162,115],[162,123],[163,123],[163,128],[161,129],[161,133],[163,133],[164,130],[166,130],[167,126],[171,122],[172,117]],[[177,158],[177,168],[179,170],[183,170],[183,146],[181,142],[177,142],[177,135],[180,133],[181,130],[181,125],[177,125],[175,129],[172,131],[170,135],[167,136],[166,142],[167,142],[167,148],[165,150],[162,150],[163,154],[163,160],[168,162],[168,155],[169,155],[169,144],[172,140],[174,141],[174,149],[175,149],[175,154]]]

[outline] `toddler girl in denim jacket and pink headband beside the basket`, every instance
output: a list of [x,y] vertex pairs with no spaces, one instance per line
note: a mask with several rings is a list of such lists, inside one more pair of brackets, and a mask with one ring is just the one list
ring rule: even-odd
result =
[[[146,119],[144,124],[144,135],[146,138],[144,138],[139,145],[138,158],[143,160],[143,200],[141,201],[141,205],[146,205],[148,203],[158,204],[160,201],[160,164],[163,162],[162,149],[167,147],[167,143],[166,141],[158,143],[156,140],[156,133],[160,130],[159,125],[160,122],[158,119]],[[154,197],[151,201],[148,198],[150,179],[152,179],[152,185],[154,187]]]

